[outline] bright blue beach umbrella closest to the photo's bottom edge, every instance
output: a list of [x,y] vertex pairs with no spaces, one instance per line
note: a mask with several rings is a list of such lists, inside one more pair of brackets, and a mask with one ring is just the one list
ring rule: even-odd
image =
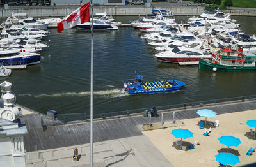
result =
[[235,156],[231,153],[221,152],[220,154],[216,155],[216,161],[223,164],[223,165],[235,165],[240,163],[239,157]]

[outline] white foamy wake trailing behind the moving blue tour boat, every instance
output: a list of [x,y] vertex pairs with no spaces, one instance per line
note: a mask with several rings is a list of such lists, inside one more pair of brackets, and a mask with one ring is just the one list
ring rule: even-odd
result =
[[[94,91],[93,94],[95,96],[106,96],[108,98],[122,97],[128,96],[129,94],[124,91],[124,89],[110,89],[106,91]],[[86,92],[60,92],[55,94],[19,94],[19,96],[34,96],[35,98],[43,98],[43,97],[67,97],[67,96],[90,96],[90,91]]]

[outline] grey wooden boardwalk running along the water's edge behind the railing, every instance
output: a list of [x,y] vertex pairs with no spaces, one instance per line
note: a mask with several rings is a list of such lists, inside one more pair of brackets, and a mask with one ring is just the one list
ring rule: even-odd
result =
[[[256,109],[256,101],[214,105],[207,106],[206,108],[212,109],[218,114],[241,112]],[[198,108],[191,108],[180,110],[179,112],[176,111],[175,119],[181,120],[199,117],[196,114],[197,110]],[[164,112],[164,122],[170,122],[172,120],[172,112]],[[95,121],[93,127],[94,142],[142,135],[142,125],[148,124],[148,117],[143,117],[142,115],[143,113],[138,116]],[[24,137],[24,146],[27,152],[90,143],[89,122],[52,126],[42,131],[40,115],[24,115],[20,120],[26,124],[28,129],[28,134]],[[160,117],[152,118],[153,124],[160,121]]]

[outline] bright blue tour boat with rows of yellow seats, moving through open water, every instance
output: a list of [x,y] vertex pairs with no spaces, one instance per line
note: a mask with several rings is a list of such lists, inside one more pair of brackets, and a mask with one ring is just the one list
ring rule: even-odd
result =
[[173,92],[181,89],[186,84],[179,80],[157,80],[142,82],[143,76],[135,74],[134,82],[125,81],[124,88],[129,94],[153,94]]

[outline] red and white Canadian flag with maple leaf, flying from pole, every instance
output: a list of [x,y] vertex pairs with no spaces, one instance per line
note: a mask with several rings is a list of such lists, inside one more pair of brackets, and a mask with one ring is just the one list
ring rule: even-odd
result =
[[84,22],[90,22],[90,3],[84,4],[67,15],[67,17],[57,24],[57,31],[58,33],[61,33],[63,29],[70,29],[77,24],[82,24]]

